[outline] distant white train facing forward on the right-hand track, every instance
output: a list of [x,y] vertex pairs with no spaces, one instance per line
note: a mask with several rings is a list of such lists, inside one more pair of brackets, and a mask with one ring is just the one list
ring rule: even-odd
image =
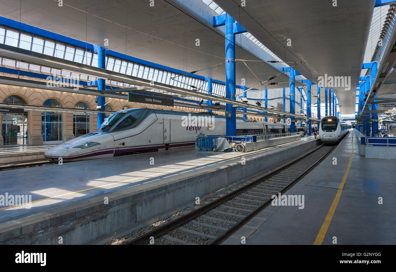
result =
[[320,121],[319,136],[325,144],[337,143],[348,132],[350,126],[335,116],[323,117]]

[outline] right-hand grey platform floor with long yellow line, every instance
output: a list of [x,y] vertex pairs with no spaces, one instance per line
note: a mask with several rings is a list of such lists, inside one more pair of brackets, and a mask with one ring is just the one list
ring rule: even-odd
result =
[[395,163],[361,156],[354,129],[285,193],[303,209],[270,205],[223,244],[396,244]]

